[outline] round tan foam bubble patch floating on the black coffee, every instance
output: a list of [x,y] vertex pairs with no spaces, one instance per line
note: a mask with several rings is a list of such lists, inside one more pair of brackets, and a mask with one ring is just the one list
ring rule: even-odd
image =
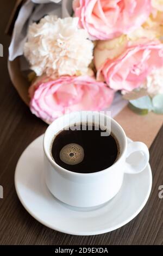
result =
[[75,165],[83,161],[84,149],[79,144],[70,143],[61,149],[59,157],[64,163]]

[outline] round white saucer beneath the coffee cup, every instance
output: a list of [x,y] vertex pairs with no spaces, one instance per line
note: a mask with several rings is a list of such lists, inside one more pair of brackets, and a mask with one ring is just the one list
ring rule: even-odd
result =
[[102,234],[133,220],[147,203],[152,187],[149,164],[142,173],[125,174],[120,192],[102,206],[81,209],[61,203],[45,184],[42,143],[43,135],[24,150],[16,167],[15,187],[24,208],[43,225],[72,235]]

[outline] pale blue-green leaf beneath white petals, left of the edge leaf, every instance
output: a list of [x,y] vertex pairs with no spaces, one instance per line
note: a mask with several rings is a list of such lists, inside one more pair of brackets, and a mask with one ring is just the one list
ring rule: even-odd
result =
[[146,109],[148,111],[152,111],[153,109],[151,97],[149,96],[143,96],[136,100],[130,100],[129,102],[131,105],[139,109]]

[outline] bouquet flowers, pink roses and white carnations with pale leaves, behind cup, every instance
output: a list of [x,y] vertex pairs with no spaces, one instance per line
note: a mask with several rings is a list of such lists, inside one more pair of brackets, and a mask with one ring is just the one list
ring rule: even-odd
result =
[[51,123],[65,111],[108,109],[117,94],[136,113],[163,113],[163,1],[62,5],[68,17],[48,12],[23,40],[32,113]]

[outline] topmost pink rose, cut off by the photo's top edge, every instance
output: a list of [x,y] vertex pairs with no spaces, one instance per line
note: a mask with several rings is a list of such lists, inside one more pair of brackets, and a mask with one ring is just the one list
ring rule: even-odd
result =
[[133,32],[152,7],[151,0],[74,0],[73,9],[92,40],[108,40]]

